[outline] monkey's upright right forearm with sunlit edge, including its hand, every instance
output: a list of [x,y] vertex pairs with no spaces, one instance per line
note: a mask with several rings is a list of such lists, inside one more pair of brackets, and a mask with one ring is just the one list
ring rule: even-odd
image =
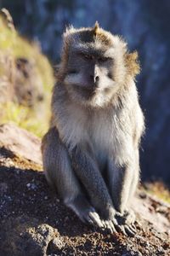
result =
[[135,175],[135,161],[124,166],[117,167],[113,159],[109,160],[107,179],[113,205],[116,208],[118,228],[124,234],[133,236],[135,230],[130,223],[127,223],[127,202],[129,200],[133,177]]

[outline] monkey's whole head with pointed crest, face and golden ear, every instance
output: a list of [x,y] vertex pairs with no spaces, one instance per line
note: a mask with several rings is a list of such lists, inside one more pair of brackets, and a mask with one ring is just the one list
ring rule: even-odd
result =
[[60,76],[72,100],[100,107],[111,101],[127,77],[139,73],[137,53],[128,54],[127,44],[99,27],[66,29]]

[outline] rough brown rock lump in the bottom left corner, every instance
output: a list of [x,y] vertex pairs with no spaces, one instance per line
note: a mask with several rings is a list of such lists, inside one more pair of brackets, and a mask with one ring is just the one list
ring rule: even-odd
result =
[[46,256],[48,246],[53,244],[55,249],[64,246],[59,232],[48,224],[38,224],[36,218],[9,218],[1,231],[1,255]]

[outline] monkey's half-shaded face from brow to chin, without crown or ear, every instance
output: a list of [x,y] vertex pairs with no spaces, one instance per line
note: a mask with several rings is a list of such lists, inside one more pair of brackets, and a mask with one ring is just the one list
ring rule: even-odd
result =
[[72,49],[65,76],[71,96],[96,107],[109,102],[119,84],[117,61],[116,49]]

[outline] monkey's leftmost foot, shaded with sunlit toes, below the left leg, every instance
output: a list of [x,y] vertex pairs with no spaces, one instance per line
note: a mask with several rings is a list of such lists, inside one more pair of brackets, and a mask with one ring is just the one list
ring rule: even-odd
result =
[[77,196],[77,198],[66,203],[66,205],[77,214],[83,223],[103,228],[103,223],[99,218],[99,214],[95,211],[94,207],[90,206],[83,195]]

